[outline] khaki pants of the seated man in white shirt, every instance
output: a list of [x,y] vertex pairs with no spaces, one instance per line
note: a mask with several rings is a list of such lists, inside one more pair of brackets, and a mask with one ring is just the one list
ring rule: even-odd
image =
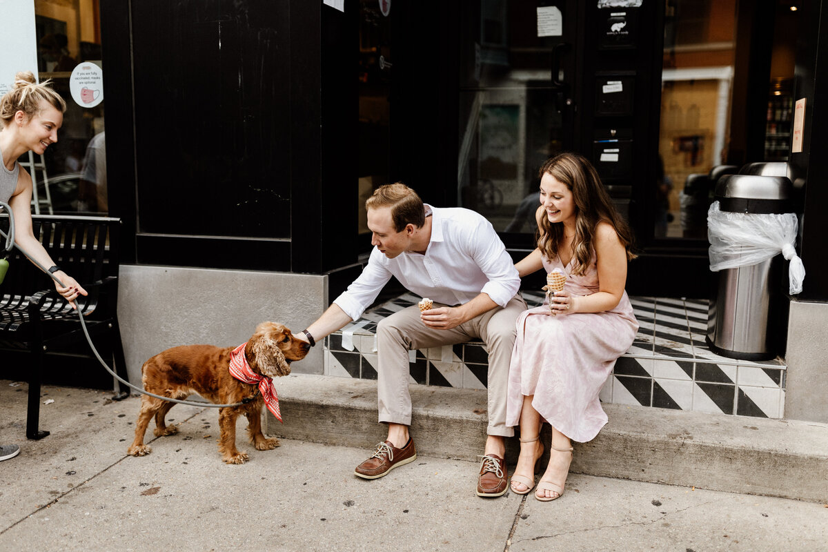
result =
[[[435,308],[438,306],[435,303]],[[506,426],[509,361],[515,341],[515,320],[526,310],[526,302],[515,295],[504,307],[496,307],[452,329],[432,329],[422,323],[416,305],[391,314],[377,326],[377,372],[379,421],[411,425],[412,399],[408,351],[465,343],[479,338],[489,351],[489,435],[511,437]]]

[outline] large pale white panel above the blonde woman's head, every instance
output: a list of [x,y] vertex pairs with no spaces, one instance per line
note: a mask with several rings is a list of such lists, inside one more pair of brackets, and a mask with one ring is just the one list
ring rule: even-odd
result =
[[[0,96],[12,89],[14,75],[31,71],[37,75],[35,2],[0,0],[5,22],[0,32]],[[13,22],[13,23],[9,23]]]

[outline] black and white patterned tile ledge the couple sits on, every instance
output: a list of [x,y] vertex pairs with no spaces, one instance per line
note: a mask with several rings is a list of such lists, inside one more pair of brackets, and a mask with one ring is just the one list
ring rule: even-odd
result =
[[[530,306],[542,292],[524,291]],[[782,418],[785,362],[721,357],[705,343],[707,301],[631,297],[638,335],[600,393],[603,402]],[[414,305],[400,295],[325,338],[325,374],[377,378],[374,334],[379,320]],[[488,353],[483,343],[461,343],[409,353],[411,382],[485,389]]]

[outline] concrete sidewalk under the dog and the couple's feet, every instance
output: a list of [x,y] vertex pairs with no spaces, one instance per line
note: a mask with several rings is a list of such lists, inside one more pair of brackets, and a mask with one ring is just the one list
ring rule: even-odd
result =
[[[476,463],[421,455],[386,478],[371,452],[282,439],[221,462],[218,411],[176,406],[179,434],[126,455],[140,399],[45,386],[27,441],[26,384],[0,381],[0,550],[828,550],[828,507],[570,474],[555,502],[474,495]],[[285,410],[286,416],[296,412]],[[152,427],[152,424],[151,424]],[[423,436],[425,439],[425,436]],[[511,467],[510,467],[511,468]]]

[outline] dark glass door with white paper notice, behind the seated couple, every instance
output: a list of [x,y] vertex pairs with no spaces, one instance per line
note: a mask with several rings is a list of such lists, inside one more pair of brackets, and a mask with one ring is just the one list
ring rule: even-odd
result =
[[517,240],[536,228],[537,171],[575,143],[577,12],[572,1],[465,0],[458,204]]

